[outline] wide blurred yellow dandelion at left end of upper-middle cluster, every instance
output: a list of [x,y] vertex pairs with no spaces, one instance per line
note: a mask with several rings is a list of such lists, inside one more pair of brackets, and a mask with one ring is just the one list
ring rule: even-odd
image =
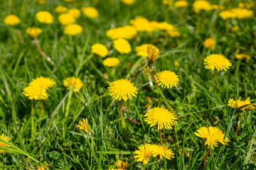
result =
[[111,38],[111,40],[116,40],[118,38],[129,40],[134,38],[135,35],[137,35],[137,30],[134,26],[123,26],[107,30],[107,37]]

